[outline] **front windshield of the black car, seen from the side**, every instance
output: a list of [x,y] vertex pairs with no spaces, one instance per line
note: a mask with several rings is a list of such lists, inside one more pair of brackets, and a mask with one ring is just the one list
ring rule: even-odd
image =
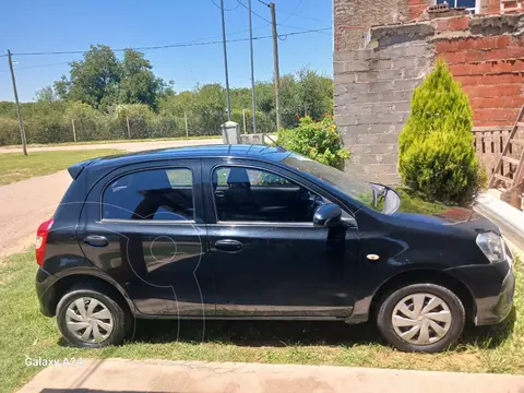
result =
[[352,175],[295,153],[284,158],[282,163],[321,179],[368,207],[378,212],[383,210],[383,203],[373,202],[371,184],[358,180]]

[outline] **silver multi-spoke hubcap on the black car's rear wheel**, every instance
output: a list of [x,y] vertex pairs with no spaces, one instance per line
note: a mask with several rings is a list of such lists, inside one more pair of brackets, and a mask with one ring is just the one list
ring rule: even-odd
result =
[[82,297],[69,305],[66,311],[68,331],[84,343],[102,343],[112,333],[114,318],[99,300]]

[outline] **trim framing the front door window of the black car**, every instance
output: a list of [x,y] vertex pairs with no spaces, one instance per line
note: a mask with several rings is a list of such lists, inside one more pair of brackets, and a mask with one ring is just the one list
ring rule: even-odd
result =
[[[227,225],[227,226],[283,226],[283,227],[289,227],[289,228],[294,228],[294,227],[314,227],[313,223],[302,223],[302,222],[254,222],[254,221],[230,221],[230,222],[227,222],[227,221],[221,221],[218,219],[218,209],[216,206],[216,199],[215,199],[215,193],[213,191],[213,172],[216,170],[216,168],[218,167],[239,167],[239,168],[247,168],[247,169],[254,169],[254,170],[260,170],[260,171],[267,171],[270,174],[273,174],[273,175],[276,175],[276,176],[279,176],[284,179],[286,179],[287,181],[289,181],[290,183],[296,183],[297,186],[299,187],[302,187],[305,188],[306,190],[308,190],[309,192],[313,192],[314,194],[319,194],[318,192],[311,190],[309,187],[306,187],[303,186],[301,182],[299,181],[295,181],[295,180],[291,180],[289,179],[287,176],[284,176],[282,174],[277,174],[275,170],[273,169],[267,169],[267,168],[261,168],[261,167],[257,167],[254,165],[249,165],[249,164],[216,164],[214,165],[211,170],[210,170],[210,184],[211,184],[211,198],[213,199],[213,207],[214,207],[214,212],[215,212],[215,222],[216,224],[210,224],[207,223],[207,225]],[[321,198],[324,198],[327,200],[327,202],[330,203],[334,203],[332,202],[331,200],[329,200],[325,196],[322,196],[322,195],[319,195]],[[338,204],[338,203],[337,203]],[[343,209],[343,207],[341,207]],[[344,209],[343,209],[344,210]]]

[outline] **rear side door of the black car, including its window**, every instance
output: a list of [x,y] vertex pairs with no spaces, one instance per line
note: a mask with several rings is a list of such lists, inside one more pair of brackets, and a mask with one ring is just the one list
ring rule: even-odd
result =
[[85,255],[126,288],[141,313],[214,312],[200,159],[111,172],[90,192],[81,223]]

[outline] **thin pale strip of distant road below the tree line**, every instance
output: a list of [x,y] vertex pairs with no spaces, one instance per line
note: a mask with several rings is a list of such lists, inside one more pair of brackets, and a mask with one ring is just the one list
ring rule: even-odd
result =
[[[209,140],[187,140],[187,141],[156,141],[156,142],[130,142],[130,143],[103,143],[103,144],[85,144],[69,146],[47,146],[47,147],[28,147],[28,152],[52,152],[52,151],[76,151],[76,150],[98,150],[98,148],[120,148],[128,152],[141,152],[152,148],[195,146],[204,144],[221,144],[222,139]],[[0,153],[20,153],[21,148],[0,147]]]

